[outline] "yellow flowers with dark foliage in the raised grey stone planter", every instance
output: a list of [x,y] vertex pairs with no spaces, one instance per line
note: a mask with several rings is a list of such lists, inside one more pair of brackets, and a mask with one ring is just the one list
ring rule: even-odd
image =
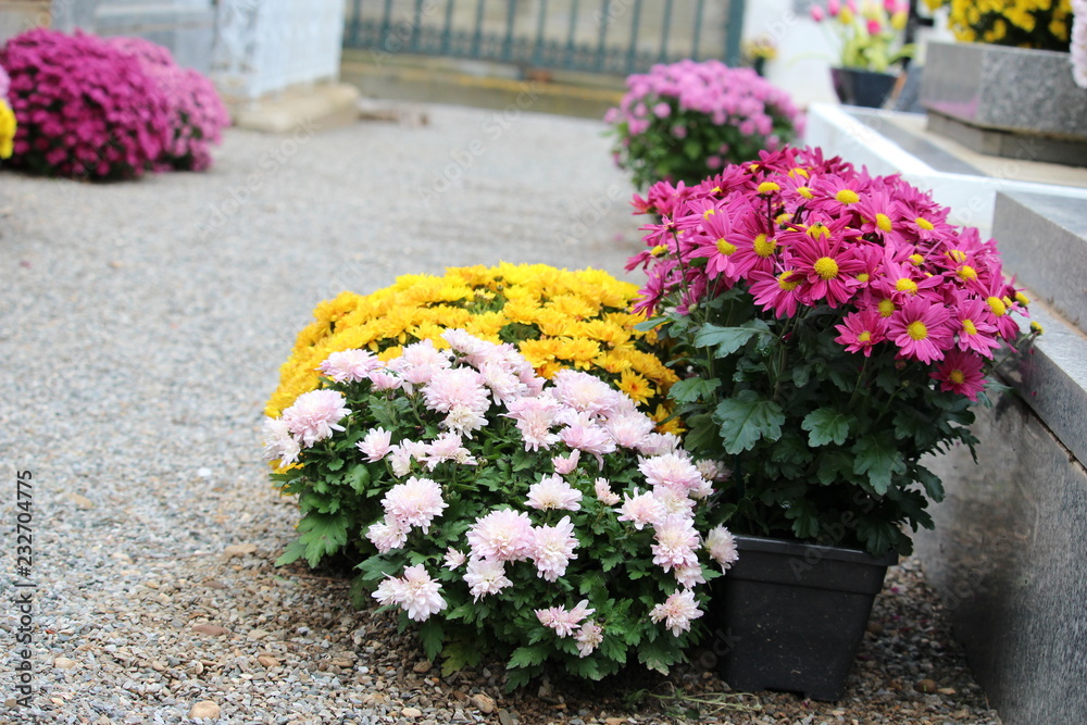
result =
[[925,0],[949,9],[948,25],[959,40],[1000,46],[1067,50],[1072,0]]

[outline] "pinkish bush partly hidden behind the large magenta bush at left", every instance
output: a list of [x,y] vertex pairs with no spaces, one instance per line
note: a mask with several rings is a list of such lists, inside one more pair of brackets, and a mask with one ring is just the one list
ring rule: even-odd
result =
[[136,58],[155,88],[170,103],[167,138],[158,165],[179,171],[211,166],[211,146],[222,140],[230,116],[210,78],[174,62],[170,51],[142,38],[109,38],[122,52]]

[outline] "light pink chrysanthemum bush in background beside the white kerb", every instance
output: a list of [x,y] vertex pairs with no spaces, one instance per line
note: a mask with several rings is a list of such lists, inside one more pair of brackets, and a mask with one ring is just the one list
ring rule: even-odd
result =
[[751,68],[684,60],[632,75],[626,85],[604,121],[616,138],[615,163],[641,189],[658,180],[696,184],[802,132],[789,95]]

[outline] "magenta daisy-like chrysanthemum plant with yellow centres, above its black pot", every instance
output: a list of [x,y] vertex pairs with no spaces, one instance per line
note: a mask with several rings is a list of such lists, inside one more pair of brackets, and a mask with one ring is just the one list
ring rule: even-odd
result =
[[734,472],[716,521],[908,553],[903,527],[932,527],[944,496],[922,457],[973,448],[970,407],[1025,342],[1027,299],[996,243],[817,149],[661,183],[635,205],[655,215],[629,263],[648,275],[636,309],[684,378],[670,392],[684,445]]

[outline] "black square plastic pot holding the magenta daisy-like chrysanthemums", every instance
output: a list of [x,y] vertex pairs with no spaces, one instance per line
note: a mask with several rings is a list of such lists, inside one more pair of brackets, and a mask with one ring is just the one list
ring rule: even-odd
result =
[[707,624],[737,691],[838,700],[894,553],[737,536],[739,561],[713,582]]

